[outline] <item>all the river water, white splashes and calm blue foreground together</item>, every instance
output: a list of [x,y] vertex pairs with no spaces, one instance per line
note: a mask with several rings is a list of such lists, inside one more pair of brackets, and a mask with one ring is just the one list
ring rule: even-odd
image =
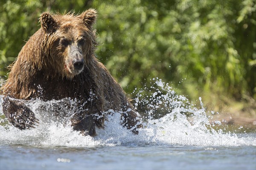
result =
[[147,108],[138,135],[120,125],[122,113],[112,112],[96,137],[82,136],[69,118],[52,116],[59,101],[26,102],[40,123],[18,130],[0,120],[0,169],[256,169],[255,132],[214,130],[203,107],[159,79],[134,93],[137,109]]

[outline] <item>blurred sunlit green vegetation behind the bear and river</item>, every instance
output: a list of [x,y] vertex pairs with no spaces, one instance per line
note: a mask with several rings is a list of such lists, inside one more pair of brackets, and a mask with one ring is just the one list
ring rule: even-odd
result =
[[[256,3],[253,0],[1,0],[0,76],[43,11],[96,8],[98,58],[128,94],[159,77],[215,111],[255,117]],[[220,109],[221,108],[221,109]],[[227,108],[227,107],[226,107]],[[255,118],[254,118],[255,119]]]

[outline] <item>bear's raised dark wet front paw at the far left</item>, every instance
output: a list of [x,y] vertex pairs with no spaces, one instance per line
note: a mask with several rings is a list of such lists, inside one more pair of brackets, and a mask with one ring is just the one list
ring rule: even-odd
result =
[[10,99],[8,96],[3,99],[3,113],[9,122],[20,130],[29,129],[34,127],[35,123],[39,123],[35,113],[26,107],[25,103]]

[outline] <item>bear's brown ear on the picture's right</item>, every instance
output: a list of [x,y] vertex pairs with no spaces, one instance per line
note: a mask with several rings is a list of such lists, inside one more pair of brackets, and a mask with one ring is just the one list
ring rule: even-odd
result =
[[81,20],[84,21],[86,26],[91,27],[93,25],[93,23],[96,22],[96,19],[98,16],[97,13],[98,12],[95,9],[90,8],[87,11],[82,12],[78,17],[80,17]]

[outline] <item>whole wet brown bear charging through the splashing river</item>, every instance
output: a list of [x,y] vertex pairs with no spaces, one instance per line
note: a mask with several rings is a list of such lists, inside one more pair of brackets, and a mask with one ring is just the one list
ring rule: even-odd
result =
[[[71,118],[74,130],[95,136],[95,125],[104,128],[104,112],[122,113],[122,125],[137,133],[137,112],[120,85],[95,57],[97,17],[95,9],[81,14],[41,14],[41,28],[32,35],[11,65],[6,83],[3,113],[19,129],[38,123],[35,114],[15,99],[77,99],[79,111]],[[39,88],[41,90],[39,90]]]

